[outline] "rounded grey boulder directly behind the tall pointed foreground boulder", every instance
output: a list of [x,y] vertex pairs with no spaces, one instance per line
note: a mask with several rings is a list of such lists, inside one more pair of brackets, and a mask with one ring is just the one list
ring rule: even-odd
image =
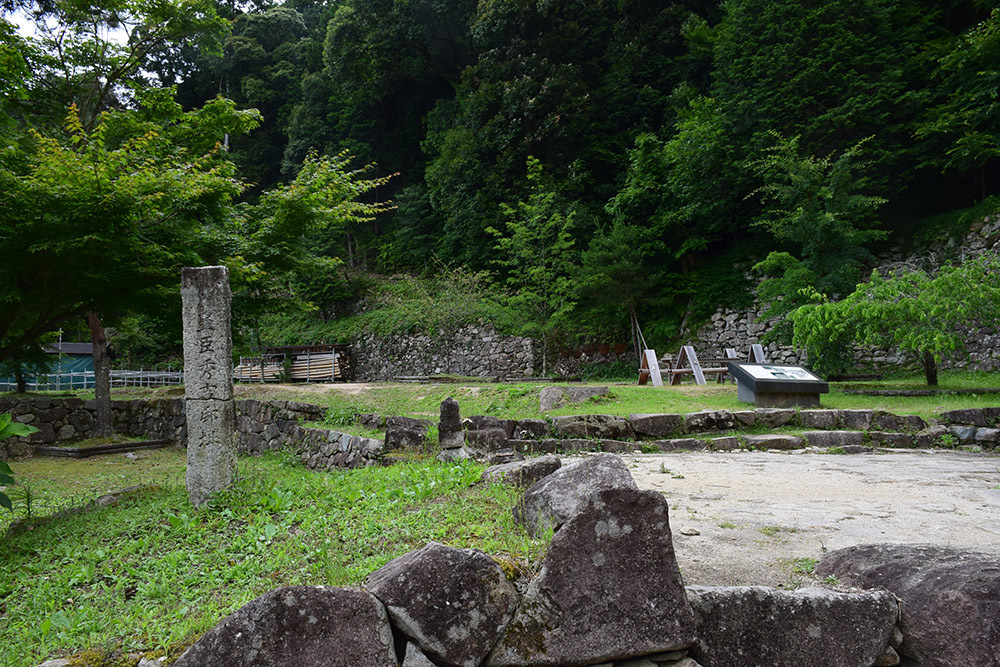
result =
[[614,454],[591,456],[531,485],[514,508],[514,518],[532,535],[558,530],[599,492],[618,488],[638,488],[622,460]]

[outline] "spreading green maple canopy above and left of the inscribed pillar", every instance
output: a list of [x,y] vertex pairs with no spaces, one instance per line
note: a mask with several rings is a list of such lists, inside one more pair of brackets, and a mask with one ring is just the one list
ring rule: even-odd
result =
[[197,148],[256,115],[225,100],[181,112],[168,97],[92,131],[73,107],[68,144],[33,132],[23,151],[0,153],[0,359],[86,313],[155,299],[197,263],[206,226],[242,189],[220,151]]

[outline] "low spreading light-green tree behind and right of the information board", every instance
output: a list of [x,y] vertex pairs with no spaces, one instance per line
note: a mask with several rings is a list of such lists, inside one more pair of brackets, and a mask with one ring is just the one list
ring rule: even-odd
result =
[[813,292],[814,303],[789,317],[793,343],[809,351],[818,368],[829,369],[846,346],[898,347],[919,359],[928,385],[937,384],[937,364],[964,349],[963,331],[1000,321],[1000,260],[984,255],[937,275],[908,269],[871,280],[840,301]]

